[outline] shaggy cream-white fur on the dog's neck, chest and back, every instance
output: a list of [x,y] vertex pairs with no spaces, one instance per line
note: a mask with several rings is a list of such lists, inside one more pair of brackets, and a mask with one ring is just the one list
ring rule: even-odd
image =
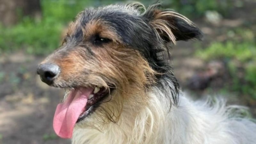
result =
[[[172,85],[168,79],[163,83]],[[147,95],[147,105],[136,108],[125,103],[119,121],[100,131],[76,127],[73,144],[254,143],[255,124],[232,116],[239,107],[225,107],[218,99],[215,106],[209,106],[211,101],[192,103],[182,95],[179,106],[173,105],[170,110],[166,94],[158,87],[152,87]]]

